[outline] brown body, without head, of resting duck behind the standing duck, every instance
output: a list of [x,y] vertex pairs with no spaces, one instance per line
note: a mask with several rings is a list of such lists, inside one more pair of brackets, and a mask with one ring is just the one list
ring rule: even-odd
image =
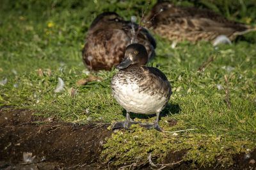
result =
[[[86,44],[83,49],[84,64],[90,70],[111,70],[124,58],[125,48],[132,40],[132,24],[124,22],[123,27],[102,27],[89,30]],[[134,24],[135,31],[138,25]],[[154,56],[156,42],[145,28],[138,33],[138,43],[145,46],[148,58]]]

